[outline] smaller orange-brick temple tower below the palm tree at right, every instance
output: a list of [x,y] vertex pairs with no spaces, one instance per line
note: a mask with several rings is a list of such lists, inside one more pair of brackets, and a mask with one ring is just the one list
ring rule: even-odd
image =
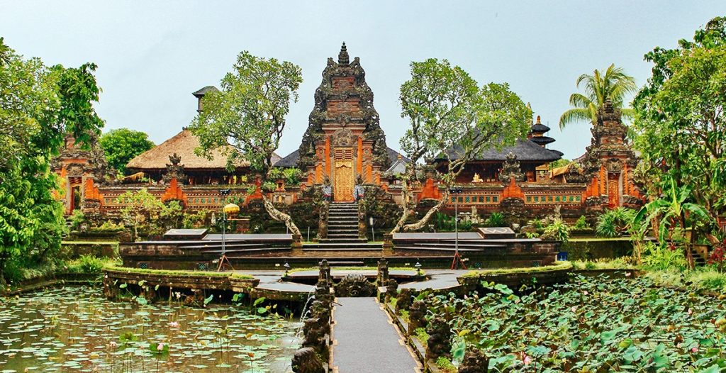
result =
[[591,131],[592,144],[582,161],[584,173],[590,178],[585,192],[588,215],[600,213],[603,208],[642,205],[632,176],[637,157],[627,142],[627,127],[620,110],[605,102]]

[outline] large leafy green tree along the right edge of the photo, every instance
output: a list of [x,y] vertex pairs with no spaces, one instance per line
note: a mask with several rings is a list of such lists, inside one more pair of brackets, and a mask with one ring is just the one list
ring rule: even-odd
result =
[[[688,187],[689,202],[713,222],[726,213],[726,18],[714,18],[676,49],[653,49],[645,60],[654,66],[634,101],[637,176],[651,200],[672,200],[672,181],[678,190]],[[715,226],[703,230],[715,241]]]

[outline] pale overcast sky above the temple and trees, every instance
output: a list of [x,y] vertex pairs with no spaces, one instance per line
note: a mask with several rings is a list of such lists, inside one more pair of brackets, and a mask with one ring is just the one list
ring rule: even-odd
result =
[[194,118],[192,92],[219,86],[242,50],[300,65],[278,152],[298,148],[327,57],[340,44],[360,57],[388,146],[407,126],[399,86],[409,62],[446,58],[478,83],[508,82],[573,158],[590,144],[585,123],[558,119],[582,73],[624,67],[638,85],[643,54],[673,47],[718,15],[726,1],[0,1],[0,36],[46,64],[99,65],[106,129],[146,131],[163,142]]

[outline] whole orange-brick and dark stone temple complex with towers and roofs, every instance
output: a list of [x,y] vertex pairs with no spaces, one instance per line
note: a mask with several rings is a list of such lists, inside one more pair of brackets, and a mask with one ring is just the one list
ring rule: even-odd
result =
[[[203,97],[213,89],[207,86],[194,92],[197,110],[203,110]],[[274,163],[301,170],[301,182],[290,185],[280,180],[274,190],[264,193],[276,204],[289,206],[301,200],[306,189],[329,183],[333,202],[353,202],[354,187],[364,184],[400,202],[396,173],[402,173],[409,160],[387,146],[365,71],[359,57],[351,60],[345,44],[337,61],[328,58],[314,98],[300,147]],[[607,102],[597,118],[592,144],[584,155],[563,168],[552,168],[551,163],[562,153],[548,149],[555,139],[547,136],[550,128],[538,116],[526,139],[503,149],[486,149],[468,163],[457,179],[462,193],[452,196],[444,210],[453,210],[457,203],[460,210],[476,208],[484,214],[502,211],[532,218],[560,206],[563,216],[578,218],[597,216],[604,208],[642,205],[632,176],[637,158],[627,143],[619,110]],[[77,149],[69,138],[54,161],[53,170],[63,181],[59,198],[68,214],[82,208],[113,216],[123,207],[119,195],[142,188],[160,200],[180,200],[189,210],[219,210],[227,197],[247,203],[261,195],[248,163],[240,162],[229,171],[224,149],[210,160],[195,155],[198,145],[198,139],[182,128],[131,160],[128,175],[119,180],[111,177],[115,172],[107,170],[97,148]],[[433,162],[436,167],[441,160]],[[230,190],[229,196],[220,194],[221,187]],[[441,199],[434,179],[414,187],[417,200]],[[248,193],[250,188],[256,192]]]

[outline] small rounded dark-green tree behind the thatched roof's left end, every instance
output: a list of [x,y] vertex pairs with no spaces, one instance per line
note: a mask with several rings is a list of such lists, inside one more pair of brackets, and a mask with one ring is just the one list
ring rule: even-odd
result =
[[154,147],[154,143],[145,132],[129,128],[108,131],[101,136],[99,142],[108,164],[121,173],[126,171],[126,163],[129,163],[129,160]]

